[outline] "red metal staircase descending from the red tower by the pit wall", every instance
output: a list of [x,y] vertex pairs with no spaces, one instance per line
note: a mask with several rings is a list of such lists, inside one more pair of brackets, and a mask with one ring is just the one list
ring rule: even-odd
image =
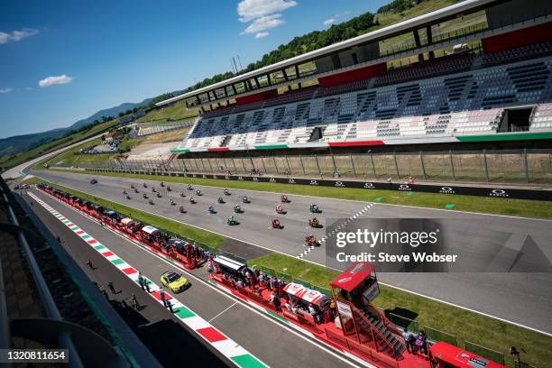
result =
[[362,308],[356,308],[343,299],[340,301],[351,307],[362,344],[375,345],[378,353],[387,354],[395,360],[400,359],[406,350],[402,334],[380,309],[366,300],[364,302],[367,304]]

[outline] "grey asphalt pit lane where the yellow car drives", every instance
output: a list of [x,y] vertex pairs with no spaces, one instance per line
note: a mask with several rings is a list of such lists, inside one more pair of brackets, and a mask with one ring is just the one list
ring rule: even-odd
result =
[[[83,216],[77,211],[64,206],[60,201],[38,190],[32,190],[32,193],[51,207],[54,207],[63,216],[70,218],[71,221],[88,234],[94,235],[99,242],[107,244],[110,250],[129,262],[137,270],[142,271],[143,275],[152,279],[152,281],[160,284],[159,277],[164,271],[182,272],[170,265],[170,263],[163,262],[151,253],[143,251],[138,245],[133,244],[124,237],[97,225],[95,221],[89,219],[87,216]],[[27,201],[32,201],[32,198],[28,196],[24,196],[24,198]],[[101,272],[105,279],[104,283],[114,281],[115,289],[124,290],[125,294],[129,295],[131,292],[134,292],[141,301],[148,299],[137,285],[128,279],[125,281],[124,276],[122,278],[118,277],[121,274],[120,271],[117,271],[110,262],[98,256],[98,253],[87,246],[87,244],[84,244],[78,236],[70,233],[67,227],[60,225],[60,222],[45,209],[36,203],[32,207],[54,234],[63,233],[64,238],[67,236],[69,240],[64,241],[63,245],[80,264],[84,265],[85,269],[88,259],[93,260],[95,266],[98,266],[98,270],[87,270],[87,273],[94,276],[95,272]],[[65,232],[69,232],[69,234],[66,235]],[[203,268],[195,270],[193,273],[199,279],[205,280],[207,278],[207,272]],[[327,367],[357,365],[341,354],[331,353],[327,348],[318,345],[318,343],[310,342],[310,340],[297,335],[297,333],[292,332],[287,327],[282,327],[281,324],[275,323],[269,317],[264,317],[259,312],[245,307],[244,304],[236,302],[236,299],[208,286],[206,282],[189,276],[189,274],[185,274],[185,276],[189,278],[191,287],[176,294],[176,299],[181,300],[189,308],[195,310],[201,317],[209,321],[211,325],[220,329],[220,331],[232,338],[236,343],[242,345],[247,351],[261,359],[263,363],[271,367],[290,367],[299,363]],[[172,294],[174,295],[174,293]],[[152,321],[172,317],[168,310],[162,308],[159,304],[152,308],[148,307],[146,311],[149,313],[148,318]],[[176,318],[173,319],[177,320]],[[190,348],[194,347],[190,346]],[[205,346],[203,346],[203,349],[205,350]],[[199,349],[198,351],[201,352],[202,350]],[[190,357],[195,355],[194,352],[190,353]],[[165,354],[170,354],[170,352],[166,351]],[[186,350],[176,350],[174,354],[186,354]],[[207,366],[219,365],[221,364]]]

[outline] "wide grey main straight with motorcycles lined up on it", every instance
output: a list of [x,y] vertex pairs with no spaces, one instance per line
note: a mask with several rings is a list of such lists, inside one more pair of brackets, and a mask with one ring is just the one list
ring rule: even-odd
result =
[[[318,238],[324,236],[324,229],[308,227],[308,212],[311,203],[317,203],[322,209],[317,217],[322,224],[327,219],[349,218],[407,218],[407,217],[434,217],[456,218],[465,221],[465,226],[474,226],[473,232],[465,233],[465,241],[478,244],[485,231],[502,232],[509,236],[511,246],[520,247],[527,235],[538,244],[540,250],[552,257],[552,242],[550,230],[552,221],[509,216],[488,216],[473,213],[443,211],[419,207],[402,207],[375,204],[359,201],[338,200],[331,198],[309,198],[290,195],[291,203],[283,204],[288,211],[286,215],[276,215],[275,206],[279,201],[276,193],[256,192],[249,190],[231,189],[231,196],[224,196],[223,189],[213,187],[194,186],[200,189],[203,196],[198,197],[195,191],[186,190],[186,185],[170,183],[171,192],[160,187],[159,181],[143,179],[126,179],[87,174],[73,174],[58,171],[32,172],[60,185],[78,189],[101,198],[119,202],[128,207],[135,207],[156,215],[233,237],[248,244],[255,244],[264,249],[298,256],[305,250],[303,240],[309,233]],[[97,178],[98,183],[93,185],[89,181]],[[142,187],[148,182],[148,188]],[[141,193],[133,194],[131,183]],[[152,187],[161,190],[162,198],[154,198]],[[131,199],[122,194],[126,189]],[[147,199],[142,198],[143,192],[153,199],[155,205],[149,205]],[[190,205],[188,198],[179,198],[179,192],[190,194],[198,200],[198,204]],[[252,200],[250,204],[241,204],[243,195]],[[313,188],[313,196],[316,189]],[[226,204],[216,203],[216,198],[224,197]],[[173,198],[176,206],[170,206]],[[235,215],[233,206],[240,204],[244,207],[244,214]],[[179,214],[178,207],[183,205],[186,214]],[[207,214],[207,206],[213,205],[218,211],[215,215]],[[547,204],[543,204],[547,206]],[[235,215],[240,225],[225,224],[226,216]],[[279,218],[284,228],[272,229],[272,218]],[[477,221],[474,221],[477,220]],[[354,224],[354,223],[353,223]],[[310,262],[325,263],[324,245],[314,249],[305,256]],[[477,272],[447,272],[447,273],[379,273],[380,281],[403,290],[409,290],[429,298],[438,299],[462,308],[498,317],[525,327],[530,327],[552,333],[552,273],[477,273]]]

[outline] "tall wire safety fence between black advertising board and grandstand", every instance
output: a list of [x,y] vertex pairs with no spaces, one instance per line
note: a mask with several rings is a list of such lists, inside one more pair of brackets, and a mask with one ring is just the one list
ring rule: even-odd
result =
[[552,150],[354,153],[133,160],[90,169],[286,175],[308,178],[552,184]]

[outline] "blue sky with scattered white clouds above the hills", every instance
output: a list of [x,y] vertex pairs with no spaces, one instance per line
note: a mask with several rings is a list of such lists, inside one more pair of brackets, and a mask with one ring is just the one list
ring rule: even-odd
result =
[[0,138],[189,87],[388,2],[3,1]]

